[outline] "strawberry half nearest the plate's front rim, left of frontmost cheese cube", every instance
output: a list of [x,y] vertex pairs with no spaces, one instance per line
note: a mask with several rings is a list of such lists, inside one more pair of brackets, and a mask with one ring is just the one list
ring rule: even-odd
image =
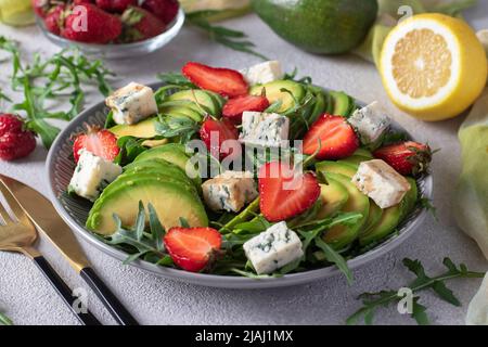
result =
[[177,266],[187,271],[198,272],[218,253],[222,236],[211,228],[171,228],[164,242]]

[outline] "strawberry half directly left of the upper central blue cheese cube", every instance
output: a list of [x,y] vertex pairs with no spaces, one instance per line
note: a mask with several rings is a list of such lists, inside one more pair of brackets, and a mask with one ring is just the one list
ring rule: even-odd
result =
[[[241,145],[237,142],[239,139],[239,130],[232,124],[232,121],[228,119],[216,120],[210,117],[205,119],[202,124],[202,128],[200,129],[200,138],[205,142],[210,154],[219,159],[223,159],[229,155],[237,155],[234,150],[229,151],[222,149],[222,143],[227,140],[233,140],[235,143],[232,145],[232,149],[235,147],[241,149]],[[228,143],[232,144],[232,143]]]

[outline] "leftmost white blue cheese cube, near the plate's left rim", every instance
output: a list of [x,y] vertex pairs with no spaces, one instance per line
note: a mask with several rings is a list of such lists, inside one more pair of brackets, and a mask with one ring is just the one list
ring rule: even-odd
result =
[[68,191],[93,202],[99,197],[103,189],[114,181],[121,171],[121,167],[117,164],[81,150]]

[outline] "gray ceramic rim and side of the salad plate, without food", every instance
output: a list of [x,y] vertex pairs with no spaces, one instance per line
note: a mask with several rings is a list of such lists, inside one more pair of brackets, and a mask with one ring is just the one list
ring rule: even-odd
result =
[[[154,89],[157,89],[160,86],[160,83],[156,83],[152,87]],[[76,232],[76,234],[85,239],[87,242],[98,247],[105,254],[121,261],[127,258],[128,254],[103,243],[85,228],[85,221],[90,209],[90,204],[63,194],[75,168],[75,164],[72,159],[72,134],[84,130],[85,123],[90,125],[103,126],[106,113],[107,108],[104,102],[100,102],[99,104],[82,112],[78,117],[76,117],[76,119],[69,123],[66,129],[64,129],[57,136],[57,139],[51,146],[47,160],[47,175],[51,188],[51,201],[64,221],[66,221],[66,223]],[[397,124],[394,124],[394,128],[401,129]],[[433,188],[432,177],[426,176],[418,180],[418,184],[420,194],[422,194],[424,197],[431,198]],[[407,237],[409,237],[420,227],[425,215],[425,209],[418,208],[416,210],[414,210],[409,216],[409,218],[402,222],[397,234],[393,235],[390,239],[376,246],[375,248],[369,250],[368,253],[364,253],[349,260],[349,268],[358,268],[398,247],[400,243],[407,240]],[[243,277],[192,273],[182,270],[155,266],[142,260],[131,262],[130,266],[140,268],[142,270],[167,279],[206,286],[241,290],[290,286],[339,274],[339,271],[335,267],[328,267],[306,272],[286,274],[282,278],[254,280]]]

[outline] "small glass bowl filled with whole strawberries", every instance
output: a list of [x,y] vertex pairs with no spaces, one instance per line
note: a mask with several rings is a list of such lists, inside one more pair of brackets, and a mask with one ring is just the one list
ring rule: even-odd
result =
[[106,59],[152,53],[184,23],[177,0],[33,0],[33,7],[50,41]]

